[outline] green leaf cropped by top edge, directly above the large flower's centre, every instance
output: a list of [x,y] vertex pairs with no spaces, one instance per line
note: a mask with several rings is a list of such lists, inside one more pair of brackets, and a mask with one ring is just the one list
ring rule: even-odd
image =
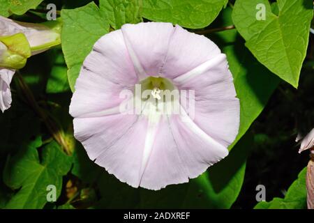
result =
[[145,0],[143,17],[199,29],[211,24],[227,0]]

